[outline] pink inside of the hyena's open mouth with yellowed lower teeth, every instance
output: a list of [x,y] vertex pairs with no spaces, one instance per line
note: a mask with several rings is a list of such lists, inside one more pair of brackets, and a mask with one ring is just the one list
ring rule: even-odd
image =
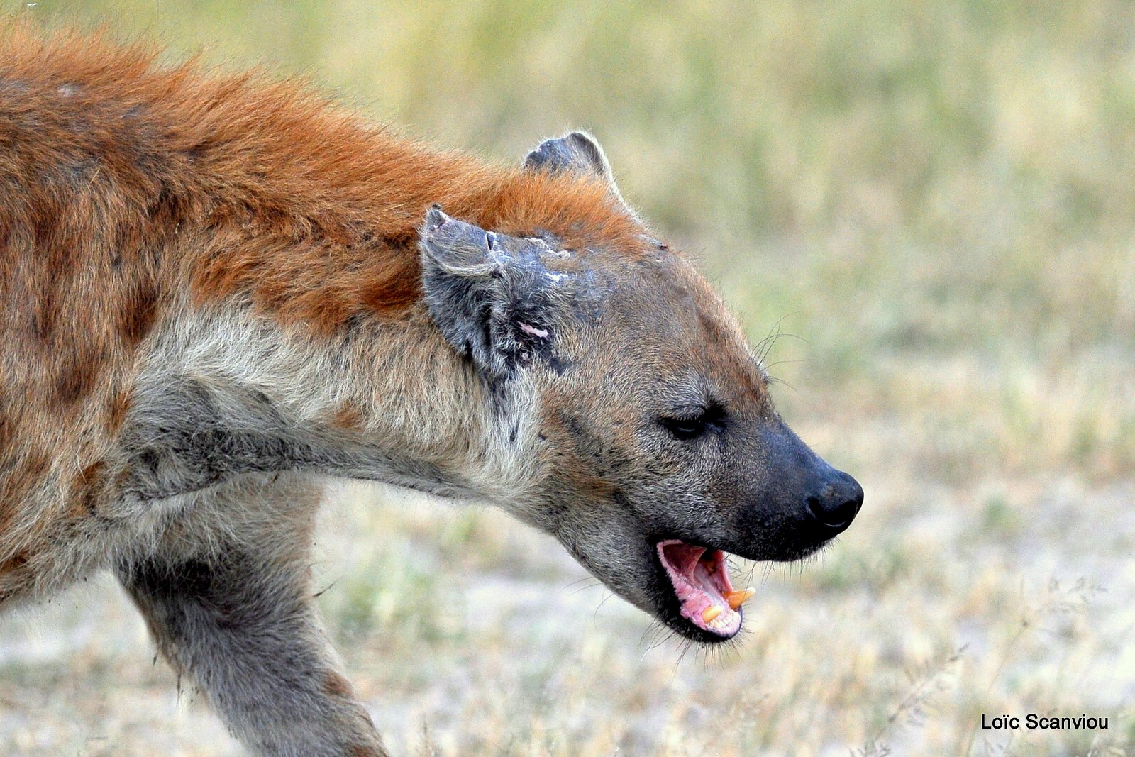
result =
[[733,588],[725,553],[672,539],[658,544],[658,558],[674,587],[682,617],[723,637],[740,630],[738,609],[756,591]]

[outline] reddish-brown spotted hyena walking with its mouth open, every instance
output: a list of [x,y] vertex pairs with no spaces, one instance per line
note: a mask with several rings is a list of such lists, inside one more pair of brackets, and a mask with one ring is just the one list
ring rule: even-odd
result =
[[0,43],[0,604],[114,571],[255,752],[380,755],[312,605],[329,477],[497,504],[700,642],[856,481],[596,141],[501,168],[302,86]]

